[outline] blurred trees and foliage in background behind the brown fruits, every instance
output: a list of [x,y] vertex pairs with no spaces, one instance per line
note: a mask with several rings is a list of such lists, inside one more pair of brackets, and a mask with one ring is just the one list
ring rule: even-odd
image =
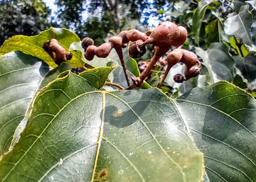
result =
[[[13,35],[37,35],[50,26],[68,28],[80,39],[87,36],[100,45],[120,30],[144,32],[171,20],[187,28],[183,48],[196,52],[203,70],[198,77],[176,84],[172,77],[184,69],[177,64],[161,89],[177,96],[177,91],[182,94],[224,79],[256,96],[256,1],[56,0],[55,5],[57,11],[41,0],[0,1],[0,45]],[[139,67],[140,61],[153,55],[153,48],[148,48],[136,60]],[[166,69],[163,59],[147,80],[151,86],[159,84]]]

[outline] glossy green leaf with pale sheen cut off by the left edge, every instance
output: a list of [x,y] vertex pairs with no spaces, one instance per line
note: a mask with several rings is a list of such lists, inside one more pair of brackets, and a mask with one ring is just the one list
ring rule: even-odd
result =
[[12,136],[23,120],[49,67],[36,57],[10,52],[0,57],[0,149],[8,152]]

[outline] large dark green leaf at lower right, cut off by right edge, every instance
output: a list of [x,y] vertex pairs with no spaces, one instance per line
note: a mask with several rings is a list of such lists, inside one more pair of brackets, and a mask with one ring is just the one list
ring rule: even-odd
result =
[[[203,98],[203,99],[202,99]],[[177,99],[210,181],[256,181],[256,103],[226,81]]]

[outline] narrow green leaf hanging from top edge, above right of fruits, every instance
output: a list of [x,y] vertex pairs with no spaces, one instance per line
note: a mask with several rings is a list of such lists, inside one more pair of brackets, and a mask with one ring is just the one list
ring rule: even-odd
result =
[[206,15],[207,7],[208,4],[206,4],[205,1],[199,1],[198,8],[196,8],[196,11],[193,13],[192,30],[195,34],[195,41],[197,45],[199,45],[200,42],[201,25],[203,22],[203,18]]

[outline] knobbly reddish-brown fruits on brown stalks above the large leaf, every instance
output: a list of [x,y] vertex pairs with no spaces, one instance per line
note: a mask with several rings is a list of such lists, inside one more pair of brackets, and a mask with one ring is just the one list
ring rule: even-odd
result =
[[[184,76],[182,74],[176,74],[174,81],[181,83],[184,80],[188,80],[191,77],[198,76],[201,72],[201,62],[195,53],[180,48],[181,45],[186,41],[188,32],[183,26],[178,26],[171,21],[164,21],[160,23],[153,31],[142,33],[139,30],[123,30],[119,35],[112,36],[109,42],[105,42],[100,46],[95,46],[94,41],[91,38],[84,38],[82,40],[82,47],[85,49],[85,58],[92,60],[95,56],[107,57],[110,51],[114,48],[117,51],[120,62],[124,69],[124,74],[127,79],[128,88],[140,87],[143,81],[149,76],[151,69],[156,65],[156,62],[163,57],[166,52],[169,52],[172,46],[178,48],[169,52],[167,55],[167,69],[164,73],[164,78],[161,84],[164,82],[166,75],[168,74],[171,67],[177,62],[186,64]],[[129,43],[130,42],[130,43]],[[129,56],[132,58],[142,57],[146,53],[146,45],[154,45],[154,56],[151,57],[151,61],[147,64],[139,77],[132,76],[133,84],[130,83],[127,69],[124,63],[124,57],[122,55],[122,48],[127,47],[129,43]],[[58,41],[50,40],[43,45],[43,48],[53,57],[52,52],[55,52],[53,59],[57,64],[66,61],[70,58],[69,52],[61,49],[58,45]],[[61,52],[61,53],[60,53]],[[59,58],[60,57],[60,58]],[[160,84],[160,86],[161,86]]]

